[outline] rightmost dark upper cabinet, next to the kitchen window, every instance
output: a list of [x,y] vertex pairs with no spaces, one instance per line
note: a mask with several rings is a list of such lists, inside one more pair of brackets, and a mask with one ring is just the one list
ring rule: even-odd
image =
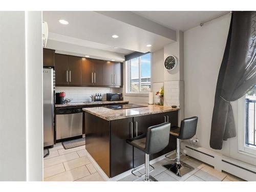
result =
[[120,62],[104,62],[104,86],[122,87],[122,64]]

